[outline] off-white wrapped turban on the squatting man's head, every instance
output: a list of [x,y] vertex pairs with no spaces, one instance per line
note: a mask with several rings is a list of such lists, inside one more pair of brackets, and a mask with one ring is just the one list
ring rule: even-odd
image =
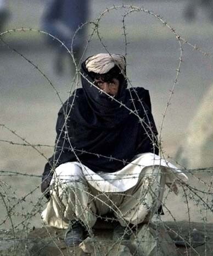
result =
[[99,53],[89,57],[85,64],[88,72],[98,74],[105,74],[109,72],[109,70],[115,65],[117,65],[122,72],[125,70],[125,58],[124,56],[117,54],[109,55],[109,53]]

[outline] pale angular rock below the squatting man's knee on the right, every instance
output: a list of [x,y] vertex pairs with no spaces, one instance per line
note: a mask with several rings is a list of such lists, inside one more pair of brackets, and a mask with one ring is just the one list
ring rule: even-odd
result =
[[130,248],[133,255],[177,255],[175,244],[162,226],[155,229],[154,225],[144,224],[136,237],[131,237]]

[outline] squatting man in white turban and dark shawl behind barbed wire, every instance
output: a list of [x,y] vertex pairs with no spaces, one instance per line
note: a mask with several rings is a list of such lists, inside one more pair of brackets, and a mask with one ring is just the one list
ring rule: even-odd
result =
[[176,180],[187,181],[158,156],[149,92],[127,88],[124,56],[88,57],[81,81],[58,113],[41,185],[49,200],[43,221],[66,229],[68,246],[79,244],[99,216],[114,215],[115,233],[149,221],[161,208],[165,184],[177,192]]

